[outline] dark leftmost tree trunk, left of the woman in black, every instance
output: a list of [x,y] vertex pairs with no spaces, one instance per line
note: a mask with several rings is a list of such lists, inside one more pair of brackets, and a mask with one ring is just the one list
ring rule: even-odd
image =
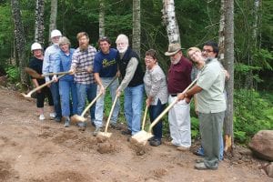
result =
[[15,25],[15,46],[18,54],[20,81],[23,89],[27,86],[27,76],[25,74],[26,56],[25,56],[25,33],[22,23],[20,5],[18,0],[11,0],[12,14]]

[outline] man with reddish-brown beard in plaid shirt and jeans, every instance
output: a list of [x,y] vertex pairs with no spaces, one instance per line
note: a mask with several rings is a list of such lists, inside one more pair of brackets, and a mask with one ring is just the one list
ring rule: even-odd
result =
[[[86,107],[86,96],[88,102],[91,102],[96,97],[96,83],[94,74],[90,72],[76,73],[77,70],[88,70],[94,65],[96,48],[89,45],[89,36],[86,32],[80,32],[76,35],[79,47],[76,48],[72,56],[72,64],[70,67],[71,74],[75,74],[76,95],[77,95],[77,114],[81,115]],[[95,106],[90,108],[91,123],[95,121]],[[85,129],[85,123],[80,123],[79,126]]]

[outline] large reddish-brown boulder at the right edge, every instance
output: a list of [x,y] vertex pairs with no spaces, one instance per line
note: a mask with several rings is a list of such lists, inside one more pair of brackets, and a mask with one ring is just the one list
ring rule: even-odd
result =
[[248,146],[257,157],[273,161],[273,130],[259,131]]

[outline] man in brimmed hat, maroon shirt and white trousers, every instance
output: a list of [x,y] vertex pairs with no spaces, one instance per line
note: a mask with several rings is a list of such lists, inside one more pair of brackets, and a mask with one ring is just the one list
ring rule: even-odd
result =
[[[183,56],[179,44],[168,45],[165,56],[170,56],[171,61],[167,73],[167,91],[168,102],[172,103],[177,99],[177,94],[182,93],[190,85],[192,64]],[[180,151],[187,151],[191,146],[189,102],[189,99],[181,100],[168,112],[171,144]]]

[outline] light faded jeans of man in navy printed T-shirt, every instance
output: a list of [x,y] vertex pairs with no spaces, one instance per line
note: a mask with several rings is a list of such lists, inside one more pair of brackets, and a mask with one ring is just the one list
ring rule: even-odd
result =
[[[106,87],[113,79],[114,77],[101,77],[101,81],[104,87]],[[110,94],[112,97],[112,104],[115,100],[116,97],[116,89],[118,87],[118,79],[116,79],[110,88]],[[96,89],[96,94],[98,95],[100,91],[100,87],[97,86]],[[95,125],[96,127],[102,127],[103,126],[103,117],[104,117],[104,100],[105,100],[105,95],[100,96],[97,101],[96,101],[96,111],[95,111]],[[113,110],[113,115],[111,116],[111,123],[116,124],[117,116],[119,112],[119,99],[117,98],[116,100],[116,106],[114,107]]]

